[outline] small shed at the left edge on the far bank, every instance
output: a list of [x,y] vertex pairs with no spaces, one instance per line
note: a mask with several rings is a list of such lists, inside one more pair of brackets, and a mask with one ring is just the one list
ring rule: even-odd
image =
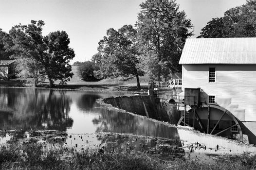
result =
[[9,79],[15,75],[15,60],[0,60],[0,79]]

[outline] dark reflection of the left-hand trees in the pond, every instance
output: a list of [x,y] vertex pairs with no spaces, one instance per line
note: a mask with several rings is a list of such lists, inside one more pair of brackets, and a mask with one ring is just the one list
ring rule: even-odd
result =
[[0,127],[13,130],[56,129],[72,127],[69,118],[72,100],[66,91],[31,88],[0,88]]

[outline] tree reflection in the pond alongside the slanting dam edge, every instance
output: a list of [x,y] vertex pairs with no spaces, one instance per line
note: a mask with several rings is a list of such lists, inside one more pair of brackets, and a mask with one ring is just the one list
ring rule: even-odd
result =
[[156,123],[150,119],[107,108],[99,108],[101,115],[92,119],[96,132],[126,133],[142,136],[158,136],[179,139],[176,128]]

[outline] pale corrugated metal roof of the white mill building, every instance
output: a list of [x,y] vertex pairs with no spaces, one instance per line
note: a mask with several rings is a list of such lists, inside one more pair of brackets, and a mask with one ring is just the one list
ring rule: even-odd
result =
[[179,64],[256,64],[256,38],[188,38]]

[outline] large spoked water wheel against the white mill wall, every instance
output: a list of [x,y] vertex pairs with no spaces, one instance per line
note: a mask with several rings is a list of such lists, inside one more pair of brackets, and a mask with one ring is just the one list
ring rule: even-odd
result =
[[195,127],[196,130],[205,134],[217,136],[225,136],[227,130],[232,132],[232,129],[235,129],[236,134],[239,134],[238,139],[243,140],[241,126],[237,118],[227,109],[215,104],[204,104],[195,108],[195,117],[194,109],[188,110],[185,116],[183,115],[179,120],[178,125],[180,124]]

